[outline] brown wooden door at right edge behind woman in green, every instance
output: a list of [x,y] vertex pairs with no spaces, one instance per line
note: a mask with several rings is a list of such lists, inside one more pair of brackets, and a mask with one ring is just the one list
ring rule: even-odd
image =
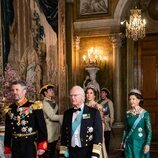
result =
[[144,108],[150,112],[153,148],[158,147],[158,35],[150,35],[139,43],[140,82]]

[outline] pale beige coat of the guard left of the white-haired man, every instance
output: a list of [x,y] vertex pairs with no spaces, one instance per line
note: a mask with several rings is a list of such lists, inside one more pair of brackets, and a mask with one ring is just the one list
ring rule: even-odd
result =
[[58,105],[55,100],[50,100],[47,97],[43,100],[43,112],[48,131],[48,143],[52,143],[59,139],[63,115],[57,114]]

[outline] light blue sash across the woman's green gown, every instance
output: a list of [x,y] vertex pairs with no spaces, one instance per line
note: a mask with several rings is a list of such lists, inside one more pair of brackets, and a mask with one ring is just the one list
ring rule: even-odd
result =
[[131,136],[131,134],[134,132],[134,129],[137,127],[138,123],[140,122],[140,120],[144,117],[144,113],[146,111],[144,110],[141,114],[139,114],[139,117],[135,120],[131,130],[129,131],[128,135],[126,136],[124,143],[123,143],[123,147],[125,148],[126,146],[126,142],[128,140],[128,138]]

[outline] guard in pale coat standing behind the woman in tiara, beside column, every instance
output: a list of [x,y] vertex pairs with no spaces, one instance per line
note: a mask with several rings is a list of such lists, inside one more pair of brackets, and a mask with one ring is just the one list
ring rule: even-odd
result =
[[113,102],[110,99],[110,91],[107,88],[101,89],[100,97],[101,100],[99,100],[98,103],[103,106],[105,146],[107,153],[109,153],[111,127],[114,122],[114,107]]

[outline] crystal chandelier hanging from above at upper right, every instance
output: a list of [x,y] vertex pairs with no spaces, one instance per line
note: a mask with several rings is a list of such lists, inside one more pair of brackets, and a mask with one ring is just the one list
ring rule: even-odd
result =
[[126,21],[126,37],[137,41],[138,38],[145,37],[146,21],[141,18],[141,10],[137,9],[137,7],[131,9],[130,13],[129,23]]

